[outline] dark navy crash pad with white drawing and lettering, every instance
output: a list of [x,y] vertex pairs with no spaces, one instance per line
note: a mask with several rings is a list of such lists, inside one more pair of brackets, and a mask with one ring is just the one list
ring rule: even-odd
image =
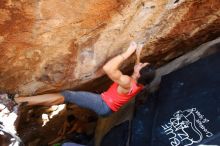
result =
[[139,127],[148,129],[142,131],[146,143],[135,139],[133,128],[132,146],[220,145],[220,53],[164,76],[157,98],[148,102],[154,104],[146,109],[155,110],[142,115],[149,121]]

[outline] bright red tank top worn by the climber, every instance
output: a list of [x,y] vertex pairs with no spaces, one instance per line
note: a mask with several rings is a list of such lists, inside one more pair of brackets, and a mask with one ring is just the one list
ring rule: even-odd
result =
[[136,82],[132,80],[132,87],[127,94],[119,94],[117,88],[118,83],[113,83],[107,91],[101,94],[102,99],[114,112],[118,111],[120,107],[140,92],[143,89],[143,86],[138,86]]

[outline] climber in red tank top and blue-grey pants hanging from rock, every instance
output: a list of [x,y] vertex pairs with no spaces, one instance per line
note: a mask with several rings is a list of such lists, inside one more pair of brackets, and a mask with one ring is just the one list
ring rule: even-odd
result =
[[[52,106],[63,103],[75,103],[76,105],[93,110],[99,116],[107,116],[116,112],[132,97],[139,93],[143,87],[149,84],[155,71],[149,63],[140,63],[142,46],[131,42],[128,49],[108,61],[103,70],[114,82],[110,88],[100,94],[84,91],[65,90],[61,93],[44,94],[30,97],[17,97],[17,103],[26,102],[27,105]],[[124,75],[119,70],[120,65],[136,51],[137,61],[131,76]]]

